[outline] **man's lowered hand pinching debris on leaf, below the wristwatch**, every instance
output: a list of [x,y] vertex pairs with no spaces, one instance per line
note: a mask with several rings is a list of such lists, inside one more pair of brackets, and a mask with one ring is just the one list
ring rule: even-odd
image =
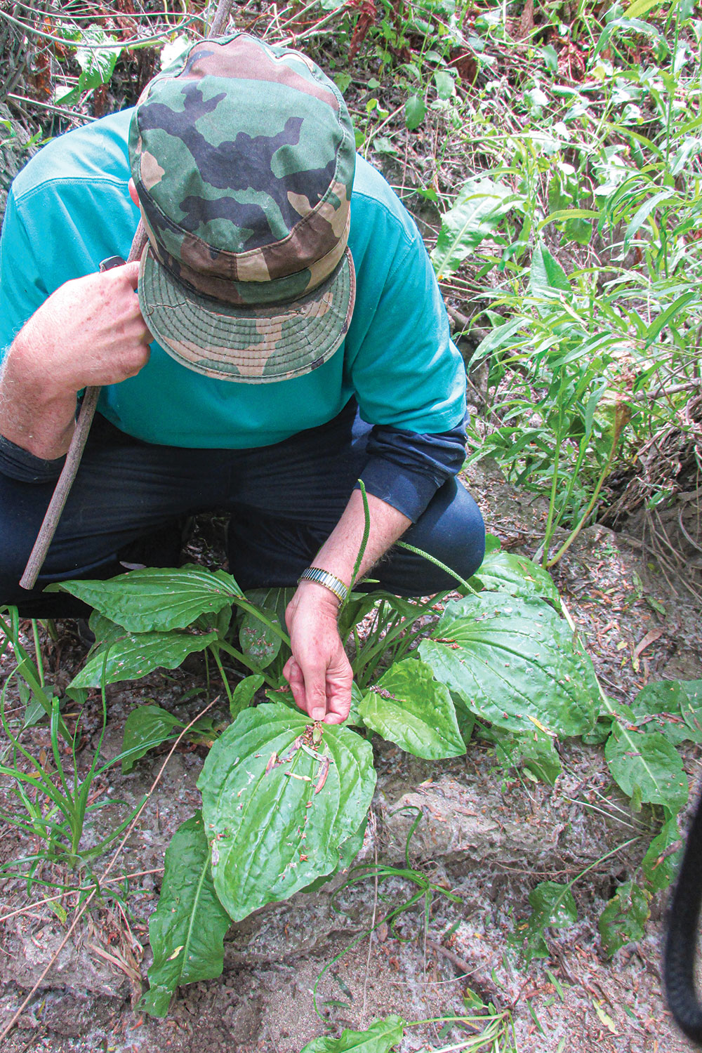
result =
[[339,636],[338,608],[328,589],[301,581],[285,611],[293,656],[283,676],[300,709],[325,723],[341,723],[350,709],[353,673]]

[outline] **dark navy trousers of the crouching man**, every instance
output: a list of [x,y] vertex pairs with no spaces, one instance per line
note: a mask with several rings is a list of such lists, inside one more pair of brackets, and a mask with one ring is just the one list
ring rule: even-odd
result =
[[[0,605],[24,617],[86,613],[64,593],[42,593],[68,578],[108,578],[139,539],[174,537],[174,525],[201,512],[229,515],[229,572],[242,589],[294,585],[343,512],[366,460],[369,429],[354,406],[321,428],[255,450],[192,450],[152,445],[96,416],[78,476],[36,589],[18,582],[54,491],[46,462],[0,448]],[[349,413],[350,411],[350,413]],[[177,531],[175,536],[178,537]],[[404,540],[461,576],[480,565],[484,526],[467,491],[444,483]],[[153,565],[171,567],[179,544],[164,540]],[[395,549],[374,569],[383,588],[404,596],[432,595],[455,580],[427,560]]]

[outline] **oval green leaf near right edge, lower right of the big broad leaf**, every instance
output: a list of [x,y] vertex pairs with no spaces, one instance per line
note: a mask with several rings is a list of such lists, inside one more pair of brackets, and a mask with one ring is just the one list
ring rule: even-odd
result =
[[665,804],[677,812],[687,800],[687,776],[680,754],[659,732],[615,723],[604,748],[609,771],[629,797]]

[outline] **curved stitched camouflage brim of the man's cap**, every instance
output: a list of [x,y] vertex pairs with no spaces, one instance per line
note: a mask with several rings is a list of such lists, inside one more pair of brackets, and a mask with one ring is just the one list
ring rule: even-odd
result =
[[290,380],[323,365],[346,335],[355,297],[348,249],[312,293],[266,307],[200,295],[178,281],[151,245],[139,269],[141,313],[163,350],[196,373],[246,384]]

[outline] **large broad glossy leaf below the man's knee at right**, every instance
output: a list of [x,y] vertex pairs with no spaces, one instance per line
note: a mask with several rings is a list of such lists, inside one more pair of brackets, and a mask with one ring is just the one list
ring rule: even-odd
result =
[[499,728],[582,735],[594,724],[593,663],[541,600],[506,593],[454,600],[419,653],[437,680]]

